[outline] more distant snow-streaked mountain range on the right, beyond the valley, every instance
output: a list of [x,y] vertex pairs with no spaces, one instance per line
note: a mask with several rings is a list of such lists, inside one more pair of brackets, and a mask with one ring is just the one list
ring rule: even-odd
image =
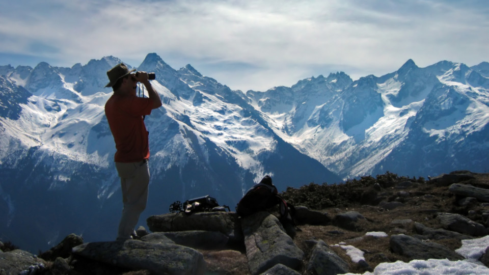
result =
[[488,67],[409,60],[381,77],[320,75],[247,96],[284,141],[342,178],[487,172]]

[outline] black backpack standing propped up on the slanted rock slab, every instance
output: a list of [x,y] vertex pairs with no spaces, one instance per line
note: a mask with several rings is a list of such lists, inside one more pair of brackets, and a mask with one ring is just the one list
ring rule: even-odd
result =
[[278,195],[277,187],[272,183],[270,176],[266,175],[259,183],[255,184],[236,205],[236,213],[240,217],[246,217],[258,211],[279,205],[281,223],[289,223],[295,226],[295,208]]

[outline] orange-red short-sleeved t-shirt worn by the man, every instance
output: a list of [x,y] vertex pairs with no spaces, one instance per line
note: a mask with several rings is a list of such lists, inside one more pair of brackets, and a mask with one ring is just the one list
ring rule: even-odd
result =
[[105,116],[116,143],[116,162],[137,162],[149,158],[148,131],[143,116],[150,115],[149,98],[113,94],[105,103]]

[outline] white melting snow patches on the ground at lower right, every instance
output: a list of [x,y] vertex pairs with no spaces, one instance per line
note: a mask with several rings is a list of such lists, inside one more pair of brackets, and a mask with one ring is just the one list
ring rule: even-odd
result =
[[[387,237],[384,232],[368,232],[367,236]],[[335,244],[346,250],[353,262],[365,260],[363,252],[352,245]],[[455,252],[464,256],[466,260],[450,261],[447,259],[412,260],[409,263],[397,261],[394,263],[381,263],[375,267],[373,272],[365,272],[362,275],[469,275],[469,274],[489,274],[489,268],[483,265],[478,259],[489,246],[489,236],[479,239],[462,240],[462,246]],[[344,275],[360,275],[346,273]]]

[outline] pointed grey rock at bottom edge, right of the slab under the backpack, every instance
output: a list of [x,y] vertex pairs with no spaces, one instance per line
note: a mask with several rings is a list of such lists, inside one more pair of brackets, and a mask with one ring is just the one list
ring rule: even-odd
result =
[[348,263],[331,250],[324,241],[318,241],[311,252],[306,274],[336,275],[344,273],[348,273]]

